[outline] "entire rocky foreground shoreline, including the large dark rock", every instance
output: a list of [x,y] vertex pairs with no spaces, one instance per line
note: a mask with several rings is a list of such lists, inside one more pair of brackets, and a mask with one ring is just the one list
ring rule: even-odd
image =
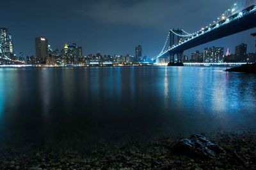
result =
[[[178,145],[182,141],[186,143],[184,148]],[[209,150],[205,150],[207,147]],[[200,154],[211,157],[198,155],[198,148]],[[182,152],[184,149],[186,152]],[[188,150],[197,155],[186,154]],[[84,154],[47,146],[5,148],[0,152],[0,169],[256,169],[256,133],[158,138],[111,147],[99,143]]]

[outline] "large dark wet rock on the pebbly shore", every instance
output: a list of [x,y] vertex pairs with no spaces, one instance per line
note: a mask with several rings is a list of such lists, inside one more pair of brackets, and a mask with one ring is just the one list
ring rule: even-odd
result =
[[225,151],[204,136],[193,134],[174,145],[172,152],[177,155],[186,155],[193,159],[211,159]]

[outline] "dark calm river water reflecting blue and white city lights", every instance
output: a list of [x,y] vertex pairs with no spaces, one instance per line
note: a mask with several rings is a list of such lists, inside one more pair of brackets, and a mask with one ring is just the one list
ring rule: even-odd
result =
[[0,141],[70,145],[255,128],[255,74],[223,69],[0,68]]

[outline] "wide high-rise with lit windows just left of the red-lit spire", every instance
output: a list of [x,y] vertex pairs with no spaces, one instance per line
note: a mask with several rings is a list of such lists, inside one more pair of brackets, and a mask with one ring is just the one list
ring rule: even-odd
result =
[[207,47],[204,48],[204,62],[218,63],[223,62],[224,48],[223,47]]

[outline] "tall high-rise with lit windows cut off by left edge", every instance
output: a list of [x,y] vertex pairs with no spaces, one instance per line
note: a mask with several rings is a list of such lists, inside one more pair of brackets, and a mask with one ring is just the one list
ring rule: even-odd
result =
[[6,28],[0,28],[0,55],[13,59],[12,35]]

